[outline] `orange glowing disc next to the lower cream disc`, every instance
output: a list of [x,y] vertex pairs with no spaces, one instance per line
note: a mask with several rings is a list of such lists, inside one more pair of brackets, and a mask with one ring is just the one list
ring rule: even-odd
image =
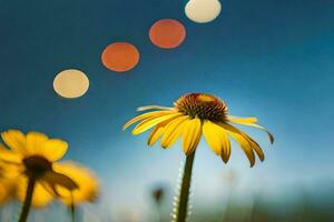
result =
[[115,42],[106,47],[101,56],[102,64],[116,72],[126,72],[139,62],[138,49],[128,42]]

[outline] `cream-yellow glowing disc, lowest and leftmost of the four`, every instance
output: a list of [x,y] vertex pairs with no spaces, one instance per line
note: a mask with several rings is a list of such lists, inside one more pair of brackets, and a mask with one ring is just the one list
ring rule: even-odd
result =
[[80,70],[69,69],[57,74],[53,80],[55,91],[63,98],[82,97],[89,88],[89,79]]

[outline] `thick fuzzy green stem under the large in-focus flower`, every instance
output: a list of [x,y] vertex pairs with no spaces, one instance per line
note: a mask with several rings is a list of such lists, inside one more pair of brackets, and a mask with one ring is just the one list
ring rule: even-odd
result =
[[185,222],[187,220],[194,158],[195,151],[186,158],[175,222]]

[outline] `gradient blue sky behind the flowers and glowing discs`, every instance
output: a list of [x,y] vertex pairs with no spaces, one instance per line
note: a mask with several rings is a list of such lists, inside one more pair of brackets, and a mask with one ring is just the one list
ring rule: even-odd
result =
[[[207,24],[189,21],[180,0],[58,0],[0,2],[0,130],[42,131],[70,144],[67,158],[94,169],[104,188],[104,208],[147,209],[147,191],[177,181],[184,155],[146,148],[146,137],[121,125],[145,104],[171,105],[186,92],[220,97],[235,115],[256,115],[276,137],[264,133],[266,161],[248,168],[235,147],[225,165],[203,142],[196,157],[194,199],[210,202],[224,193],[220,175],[233,169],[239,191],[273,193],[295,183],[316,186],[334,179],[332,0],[224,0]],[[163,50],[148,39],[158,19],[187,29],[185,42]],[[128,41],[140,62],[124,74],[105,69],[104,48]],[[55,75],[79,69],[88,93],[59,98]],[[274,193],[275,193],[274,192]]]

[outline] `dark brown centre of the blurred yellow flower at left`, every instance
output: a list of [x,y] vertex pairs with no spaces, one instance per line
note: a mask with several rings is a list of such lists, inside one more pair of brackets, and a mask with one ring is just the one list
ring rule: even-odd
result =
[[40,155],[31,155],[23,159],[23,164],[27,175],[32,178],[40,178],[47,171],[52,170],[52,163]]

